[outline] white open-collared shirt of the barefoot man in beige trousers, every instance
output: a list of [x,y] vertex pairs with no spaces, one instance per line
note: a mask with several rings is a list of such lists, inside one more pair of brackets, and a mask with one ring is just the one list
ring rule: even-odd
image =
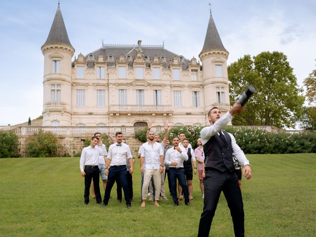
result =
[[149,142],[142,145],[141,157],[144,157],[145,169],[159,169],[160,156],[163,156],[163,149],[160,143],[155,142],[152,146]]

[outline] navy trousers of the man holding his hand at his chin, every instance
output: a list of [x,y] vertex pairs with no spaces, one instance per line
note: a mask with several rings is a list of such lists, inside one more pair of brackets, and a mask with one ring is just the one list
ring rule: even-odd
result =
[[174,203],[178,203],[177,197],[177,179],[179,184],[183,190],[184,201],[185,203],[189,203],[189,190],[187,186],[186,176],[184,173],[184,168],[172,168],[169,167],[168,176],[170,177],[171,183],[171,196]]

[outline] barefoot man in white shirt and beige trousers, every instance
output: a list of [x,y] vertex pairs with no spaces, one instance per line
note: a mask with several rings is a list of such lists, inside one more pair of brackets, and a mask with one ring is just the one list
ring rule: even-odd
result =
[[[148,142],[143,144],[143,150],[140,157],[141,172],[144,173],[144,184],[142,189],[142,204],[141,207],[146,206],[146,195],[149,183],[154,178],[156,190],[161,188],[161,173],[163,172],[163,149],[160,143],[154,141],[155,133],[148,132]],[[155,193],[154,205],[159,206],[160,192]]]

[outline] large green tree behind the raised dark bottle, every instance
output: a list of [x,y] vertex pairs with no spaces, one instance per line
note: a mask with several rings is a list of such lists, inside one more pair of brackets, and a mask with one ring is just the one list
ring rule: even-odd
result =
[[245,55],[228,67],[230,99],[233,104],[247,85],[256,93],[244,111],[234,117],[235,125],[272,125],[292,127],[299,118],[304,97],[293,69],[282,52],[262,52],[251,58]]

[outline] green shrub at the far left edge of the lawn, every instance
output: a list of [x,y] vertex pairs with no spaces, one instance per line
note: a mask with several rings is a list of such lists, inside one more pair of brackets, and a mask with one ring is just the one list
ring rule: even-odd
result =
[[0,131],[0,158],[19,157],[19,138],[13,132]]

